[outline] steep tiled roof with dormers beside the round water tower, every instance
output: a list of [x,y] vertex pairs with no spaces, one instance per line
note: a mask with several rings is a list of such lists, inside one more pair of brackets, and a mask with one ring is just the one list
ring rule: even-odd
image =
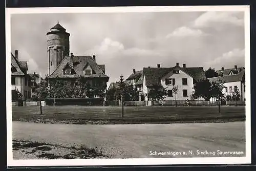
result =
[[[71,75],[64,75],[63,69],[66,67],[67,63],[70,64],[70,66],[75,71],[75,74]],[[95,72],[95,74],[89,75],[89,74],[83,74],[83,68],[86,65],[90,65],[92,70]],[[105,75],[102,71],[102,69],[98,66],[98,64],[95,62],[95,60],[91,56],[67,56],[65,57],[58,65],[58,67],[53,71],[51,75],[49,75],[47,78],[78,78],[79,76],[87,77],[87,78],[94,78],[94,77],[101,77],[101,78],[109,78],[109,76]]]

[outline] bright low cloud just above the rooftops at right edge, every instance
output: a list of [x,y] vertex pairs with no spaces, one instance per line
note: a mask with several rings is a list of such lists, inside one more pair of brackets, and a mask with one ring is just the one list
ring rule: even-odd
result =
[[222,56],[215,58],[212,61],[207,62],[209,66],[233,66],[240,65],[244,66],[245,50],[244,49],[233,49],[229,52],[223,53]]

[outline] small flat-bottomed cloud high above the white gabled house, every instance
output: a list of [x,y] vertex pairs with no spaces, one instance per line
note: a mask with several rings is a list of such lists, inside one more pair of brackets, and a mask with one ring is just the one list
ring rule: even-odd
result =
[[188,27],[179,27],[175,29],[172,33],[168,34],[166,38],[173,36],[202,36],[206,35],[202,30],[199,29],[190,29]]

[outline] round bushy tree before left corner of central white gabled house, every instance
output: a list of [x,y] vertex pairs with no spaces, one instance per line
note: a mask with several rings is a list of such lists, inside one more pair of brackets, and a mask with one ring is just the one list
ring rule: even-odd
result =
[[163,88],[158,83],[153,84],[148,92],[148,98],[152,100],[162,100],[167,96],[166,88]]

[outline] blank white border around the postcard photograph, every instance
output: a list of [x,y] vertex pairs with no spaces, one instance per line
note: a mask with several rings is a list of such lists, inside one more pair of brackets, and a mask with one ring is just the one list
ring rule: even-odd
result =
[[[244,11],[245,68],[246,68],[246,157],[204,158],[132,158],[132,159],[12,159],[11,105],[11,14],[29,13],[113,13],[113,12],[170,12],[170,11]],[[7,166],[92,166],[92,165],[166,165],[166,164],[249,164],[251,163],[251,103],[250,103],[250,13],[249,6],[153,6],[153,7],[67,7],[67,8],[6,8],[6,109],[7,109]]]

